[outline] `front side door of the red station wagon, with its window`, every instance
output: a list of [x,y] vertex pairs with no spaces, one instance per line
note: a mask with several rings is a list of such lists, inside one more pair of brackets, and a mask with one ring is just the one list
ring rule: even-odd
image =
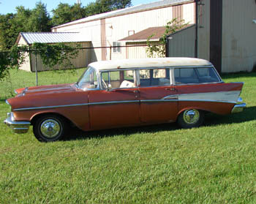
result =
[[140,93],[135,70],[111,70],[100,74],[101,88],[89,93],[91,129],[140,124]]

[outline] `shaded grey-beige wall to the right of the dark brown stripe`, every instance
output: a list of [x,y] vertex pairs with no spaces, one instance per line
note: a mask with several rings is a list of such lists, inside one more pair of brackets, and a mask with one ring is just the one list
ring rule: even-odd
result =
[[224,0],[222,72],[252,71],[256,66],[255,0]]

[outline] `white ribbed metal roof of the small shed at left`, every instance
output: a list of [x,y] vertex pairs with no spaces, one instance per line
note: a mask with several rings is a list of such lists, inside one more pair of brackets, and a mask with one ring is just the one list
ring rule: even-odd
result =
[[53,33],[20,33],[28,44],[34,42],[57,43],[57,42],[86,42],[84,36],[75,32],[53,32]]

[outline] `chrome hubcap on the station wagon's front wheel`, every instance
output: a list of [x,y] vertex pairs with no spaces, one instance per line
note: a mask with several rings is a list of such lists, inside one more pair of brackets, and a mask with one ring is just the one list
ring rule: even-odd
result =
[[41,124],[41,132],[45,137],[56,137],[61,131],[61,127],[59,126],[59,122],[53,119],[48,119],[43,121]]

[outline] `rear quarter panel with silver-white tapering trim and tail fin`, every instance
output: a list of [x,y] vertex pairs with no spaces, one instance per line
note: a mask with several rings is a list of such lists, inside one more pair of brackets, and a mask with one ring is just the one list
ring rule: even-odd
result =
[[209,83],[176,86],[178,114],[191,108],[221,115],[229,114],[243,85],[244,83]]

